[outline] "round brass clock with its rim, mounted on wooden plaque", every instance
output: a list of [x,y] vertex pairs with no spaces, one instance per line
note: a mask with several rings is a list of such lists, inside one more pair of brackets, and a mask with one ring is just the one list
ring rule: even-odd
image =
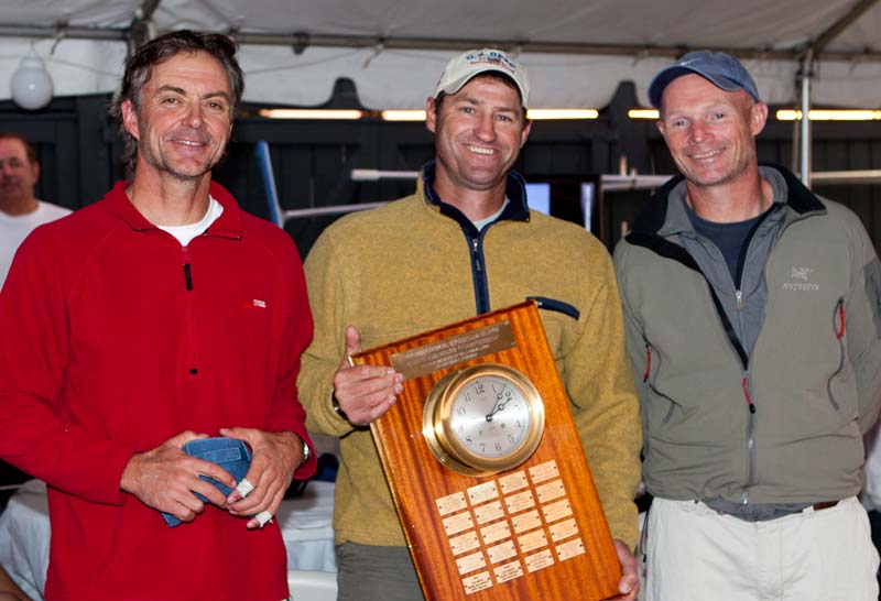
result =
[[468,476],[513,469],[544,433],[544,403],[523,373],[480,363],[444,375],[423,409],[423,436],[440,463]]

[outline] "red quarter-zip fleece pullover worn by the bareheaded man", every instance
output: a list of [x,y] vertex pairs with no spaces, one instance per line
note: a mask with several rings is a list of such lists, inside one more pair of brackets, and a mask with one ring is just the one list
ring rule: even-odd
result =
[[[50,484],[45,598],[287,597],[278,524],[248,531],[214,506],[166,527],[119,489],[132,454],[184,430],[292,430],[312,315],[296,248],[242,211],[185,249],[118,183],[39,228],[0,293],[0,457]],[[307,478],[315,460],[296,473]]]

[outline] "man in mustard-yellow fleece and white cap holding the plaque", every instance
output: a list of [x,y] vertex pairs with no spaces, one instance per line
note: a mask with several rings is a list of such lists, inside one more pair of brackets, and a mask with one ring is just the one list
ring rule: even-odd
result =
[[[334,527],[339,599],[422,599],[369,429],[402,390],[361,349],[526,298],[551,349],[634,599],[640,424],[611,261],[574,223],[526,206],[511,165],[526,141],[523,68],[492,50],[450,61],[428,98],[436,161],[416,194],[329,227],[306,261],[315,338],[298,389],[311,429],[341,438]],[[580,452],[580,449],[573,449]]]

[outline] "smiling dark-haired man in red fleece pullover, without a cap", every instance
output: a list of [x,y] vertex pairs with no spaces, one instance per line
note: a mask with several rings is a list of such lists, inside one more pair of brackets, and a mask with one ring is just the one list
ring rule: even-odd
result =
[[[315,470],[312,316],[293,241],[211,183],[235,53],[186,31],[138,50],[113,107],[131,184],[35,230],[0,294],[0,458],[48,484],[47,601],[287,598],[278,524],[255,516]],[[182,451],[209,436],[251,447],[247,496]]]

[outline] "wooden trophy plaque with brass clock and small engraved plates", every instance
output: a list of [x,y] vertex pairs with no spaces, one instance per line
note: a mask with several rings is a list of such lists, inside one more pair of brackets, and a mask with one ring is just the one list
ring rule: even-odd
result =
[[427,601],[618,594],[614,546],[534,303],[351,361],[404,374],[370,427]]

